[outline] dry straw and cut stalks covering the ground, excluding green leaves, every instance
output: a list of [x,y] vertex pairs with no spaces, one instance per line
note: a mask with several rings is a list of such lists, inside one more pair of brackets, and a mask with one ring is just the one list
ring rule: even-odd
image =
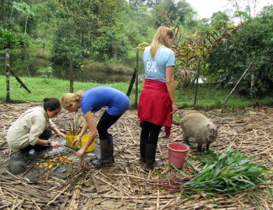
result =
[[[139,121],[136,110],[127,111],[109,130],[114,136],[115,163],[103,168],[85,164],[70,164],[67,179],[55,177],[51,170],[43,170],[36,180],[24,175],[11,175],[6,170],[10,151],[6,143],[6,132],[18,116],[37,103],[0,104],[0,209],[273,209],[272,174],[267,186],[261,191],[238,193],[233,198],[218,195],[206,198],[195,195],[191,200],[182,199],[179,192],[171,191],[175,180],[183,176],[168,166],[166,145],[182,139],[177,125],[173,125],[171,136],[165,139],[160,134],[157,158],[166,161],[166,166],[147,170],[139,162]],[[196,110],[179,110],[188,114]],[[199,110],[218,125],[218,140],[211,150],[223,152],[228,146],[240,149],[246,155],[255,155],[254,161],[273,168],[273,108],[245,108],[240,110]],[[102,114],[95,114],[96,119]],[[55,123],[63,128],[74,115],[62,112]],[[96,139],[98,146],[98,139]],[[196,145],[191,146],[187,157],[195,157]],[[195,166],[200,167],[193,161]],[[184,165],[186,177],[193,168]],[[159,188],[159,184],[166,184]]]

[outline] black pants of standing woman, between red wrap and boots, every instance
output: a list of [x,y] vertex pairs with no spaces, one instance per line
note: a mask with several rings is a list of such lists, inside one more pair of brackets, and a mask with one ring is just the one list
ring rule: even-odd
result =
[[144,121],[140,136],[141,139],[146,139],[146,143],[157,144],[161,127],[161,125],[155,125],[154,123]]

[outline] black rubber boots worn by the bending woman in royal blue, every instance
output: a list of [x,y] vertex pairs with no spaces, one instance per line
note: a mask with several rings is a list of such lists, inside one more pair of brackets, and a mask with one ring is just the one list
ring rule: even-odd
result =
[[108,139],[100,139],[100,159],[92,161],[94,166],[103,166],[105,164],[114,163],[113,141]]

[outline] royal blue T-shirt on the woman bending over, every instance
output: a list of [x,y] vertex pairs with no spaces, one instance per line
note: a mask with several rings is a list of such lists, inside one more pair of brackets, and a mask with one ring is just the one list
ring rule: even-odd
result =
[[112,87],[94,87],[83,94],[80,102],[83,114],[98,112],[104,106],[108,114],[117,116],[130,107],[130,100],[123,92]]

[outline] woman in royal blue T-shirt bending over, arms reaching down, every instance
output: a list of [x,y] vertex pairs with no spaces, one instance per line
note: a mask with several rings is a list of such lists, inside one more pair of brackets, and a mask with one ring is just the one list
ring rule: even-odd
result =
[[[85,116],[85,121],[82,130],[72,144],[79,142],[81,137],[89,128],[89,140],[76,155],[81,157],[85,150],[96,139],[96,135],[100,139],[100,159],[92,161],[94,166],[102,166],[104,164],[114,163],[114,149],[112,135],[108,133],[110,128],[130,107],[129,98],[112,87],[94,87],[87,90],[84,94],[64,94],[61,99],[62,107],[69,112],[78,112],[82,109],[82,114]],[[92,112],[98,112],[102,107],[106,106],[106,110],[98,121],[98,125],[94,120]]]

